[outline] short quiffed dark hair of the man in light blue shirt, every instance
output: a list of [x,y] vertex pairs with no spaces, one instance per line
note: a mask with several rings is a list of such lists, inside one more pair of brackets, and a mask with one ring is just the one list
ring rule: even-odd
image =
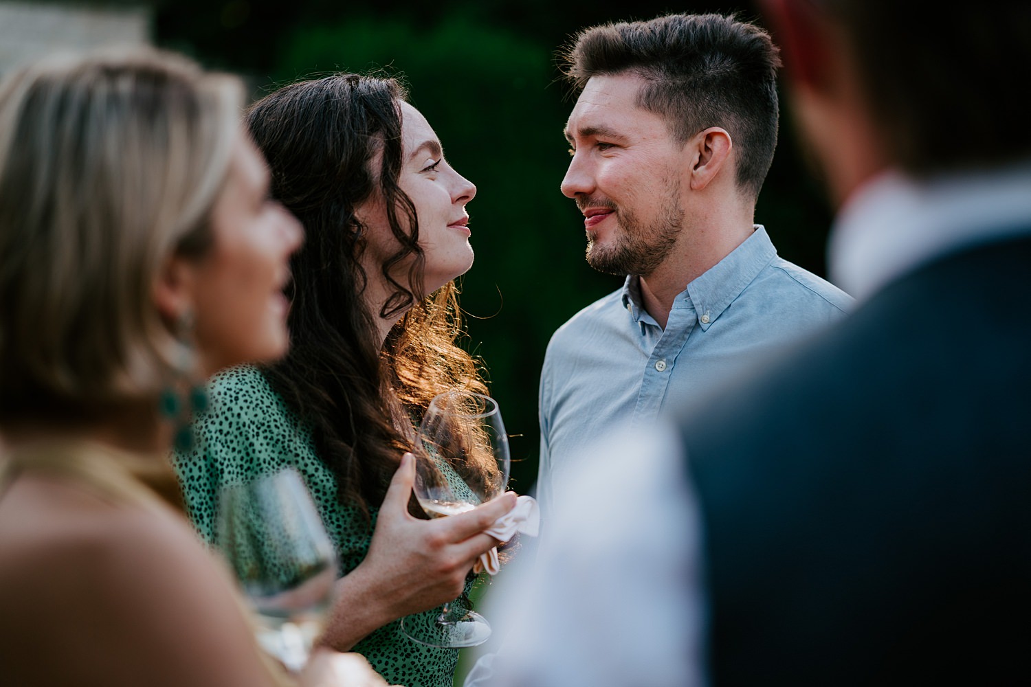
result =
[[780,58],[766,31],[734,16],[669,14],[585,29],[560,60],[577,90],[597,75],[644,78],[637,104],[664,117],[678,140],[726,129],[737,150],[737,184],[759,195],[778,117]]

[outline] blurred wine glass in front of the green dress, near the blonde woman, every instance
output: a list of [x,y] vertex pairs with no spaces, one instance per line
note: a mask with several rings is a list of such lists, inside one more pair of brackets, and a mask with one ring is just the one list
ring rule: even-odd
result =
[[251,603],[259,644],[299,673],[332,600],[337,560],[298,472],[225,488],[215,545]]

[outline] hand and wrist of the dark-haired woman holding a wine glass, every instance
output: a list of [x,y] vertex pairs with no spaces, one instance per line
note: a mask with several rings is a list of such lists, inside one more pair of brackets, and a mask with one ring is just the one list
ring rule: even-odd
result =
[[479,554],[498,544],[484,530],[512,509],[514,493],[459,515],[420,520],[408,513],[414,479],[415,460],[405,453],[384,497],[368,554],[337,582],[321,644],[346,651],[392,620],[454,600]]

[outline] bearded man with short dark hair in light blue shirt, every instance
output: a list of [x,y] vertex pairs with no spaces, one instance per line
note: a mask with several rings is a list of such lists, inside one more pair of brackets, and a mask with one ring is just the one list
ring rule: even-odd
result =
[[629,276],[547,347],[545,518],[579,447],[697,402],[851,302],[777,257],[754,224],[777,131],[779,58],[765,31],[716,14],[598,26],[565,61],[580,93],[562,193],[585,215],[591,266]]

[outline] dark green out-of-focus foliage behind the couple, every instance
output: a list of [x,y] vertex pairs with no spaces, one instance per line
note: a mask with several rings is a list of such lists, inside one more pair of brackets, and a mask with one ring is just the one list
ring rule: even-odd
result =
[[[583,218],[559,193],[568,164],[561,132],[573,101],[555,50],[583,27],[668,11],[739,11],[761,21],[746,2],[166,0],[154,29],[160,45],[244,75],[256,97],[337,70],[378,69],[408,83],[450,162],[478,187],[468,208],[476,261],[463,279],[468,344],[483,356],[513,435],[513,487],[526,492],[536,477],[547,340],[622,283],[585,263]],[[784,257],[823,274],[829,211],[785,109],[756,221]]]

